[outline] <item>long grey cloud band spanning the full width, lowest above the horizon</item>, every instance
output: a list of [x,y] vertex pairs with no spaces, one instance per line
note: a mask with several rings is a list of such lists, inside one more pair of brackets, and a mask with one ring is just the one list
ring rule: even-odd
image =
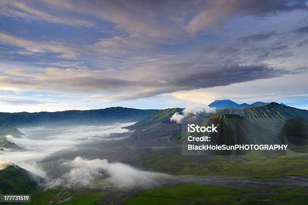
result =
[[[305,69],[289,71],[266,65],[207,66],[188,62],[167,65],[155,62],[143,66],[146,68],[129,71],[46,68],[44,73],[27,73],[11,70],[6,73],[12,77],[0,77],[0,85],[19,91],[100,92],[106,95],[105,100],[124,100],[305,72]],[[117,94],[110,95],[115,91]]]

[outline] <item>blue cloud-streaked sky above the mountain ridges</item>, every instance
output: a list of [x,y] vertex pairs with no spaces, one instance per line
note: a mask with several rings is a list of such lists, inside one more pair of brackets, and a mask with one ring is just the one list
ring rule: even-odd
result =
[[308,1],[0,0],[0,112],[308,109]]

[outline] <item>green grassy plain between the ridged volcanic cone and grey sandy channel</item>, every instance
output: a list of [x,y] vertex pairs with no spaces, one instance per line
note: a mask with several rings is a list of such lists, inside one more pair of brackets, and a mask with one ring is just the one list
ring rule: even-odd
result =
[[268,156],[184,156],[180,149],[146,153],[142,166],[146,170],[175,175],[210,175],[225,177],[275,177],[307,175],[308,154]]

